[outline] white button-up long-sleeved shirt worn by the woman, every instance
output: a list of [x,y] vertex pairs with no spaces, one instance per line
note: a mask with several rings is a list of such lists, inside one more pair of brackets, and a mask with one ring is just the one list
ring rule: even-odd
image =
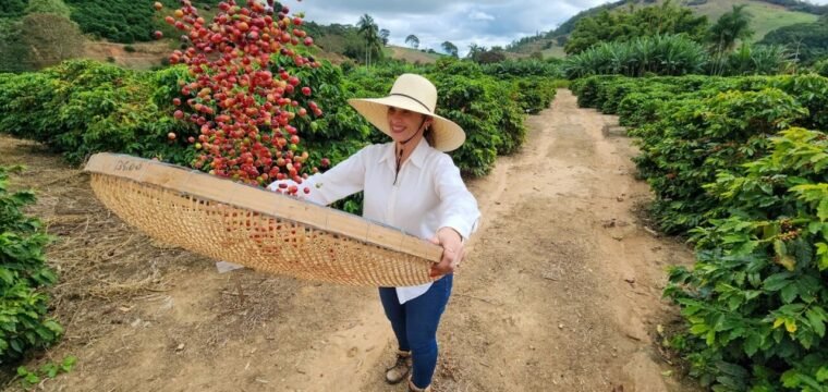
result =
[[[303,195],[305,199],[326,206],[365,191],[364,218],[426,240],[441,228],[454,229],[463,240],[468,238],[477,229],[480,211],[451,157],[423,138],[403,162],[394,183],[394,154],[393,142],[367,146],[327,172],[309,176],[299,187],[310,188]],[[295,184],[277,181],[269,188],[276,191],[282,182]],[[404,304],[430,286],[397,287],[397,296]]]

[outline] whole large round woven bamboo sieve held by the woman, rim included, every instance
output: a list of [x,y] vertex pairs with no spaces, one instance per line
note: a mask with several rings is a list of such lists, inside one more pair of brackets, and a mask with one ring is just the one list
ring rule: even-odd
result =
[[163,243],[255,270],[361,286],[430,282],[442,248],[350,213],[124,155],[96,154],[96,196]]

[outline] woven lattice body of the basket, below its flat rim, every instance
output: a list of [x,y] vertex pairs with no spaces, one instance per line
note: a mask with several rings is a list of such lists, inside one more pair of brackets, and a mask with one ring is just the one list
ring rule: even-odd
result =
[[344,285],[431,281],[433,260],[354,236],[115,175],[93,172],[92,187],[110,210],[149,236],[214,259]]

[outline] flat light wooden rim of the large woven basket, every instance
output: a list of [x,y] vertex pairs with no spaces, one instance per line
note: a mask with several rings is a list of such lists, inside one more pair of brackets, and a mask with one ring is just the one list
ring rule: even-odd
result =
[[442,247],[406,234],[402,230],[197,170],[127,155],[99,152],[89,158],[84,171],[127,179],[244,208],[434,262],[438,262],[442,257]]

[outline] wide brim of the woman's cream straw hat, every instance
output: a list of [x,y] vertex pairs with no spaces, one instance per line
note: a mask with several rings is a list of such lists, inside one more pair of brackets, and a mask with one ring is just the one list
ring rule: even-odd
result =
[[403,96],[390,96],[386,98],[354,98],[349,99],[350,103],[356,111],[362,114],[368,122],[374,124],[379,131],[391,136],[391,130],[388,124],[388,107],[405,109],[416,113],[431,117],[431,132],[434,134],[434,147],[443,152],[458,149],[465,142],[465,132],[453,121],[441,115],[431,113],[419,102]]

